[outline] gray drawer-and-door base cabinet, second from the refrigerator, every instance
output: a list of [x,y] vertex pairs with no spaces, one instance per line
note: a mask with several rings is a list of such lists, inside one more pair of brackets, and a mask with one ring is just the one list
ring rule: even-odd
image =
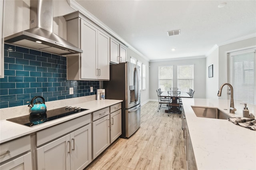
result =
[[93,159],[110,145],[109,107],[93,112]]

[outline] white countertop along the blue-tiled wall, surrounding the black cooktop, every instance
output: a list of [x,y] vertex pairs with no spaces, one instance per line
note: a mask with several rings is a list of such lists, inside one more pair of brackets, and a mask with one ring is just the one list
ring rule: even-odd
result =
[[[20,125],[20,124],[17,124],[17,123],[6,121],[6,119],[0,120],[0,143],[7,142],[9,140],[18,138],[20,136],[25,136],[25,135],[30,134],[32,132],[36,132],[36,131],[42,130],[44,128],[51,127],[51,126],[57,125],[59,123],[63,123],[65,121],[69,121],[71,119],[80,117],[82,115],[86,115],[88,113],[92,113],[92,112],[97,111],[99,109],[103,109],[105,107],[109,107],[111,105],[114,105],[114,104],[117,104],[117,103],[120,103],[120,102],[122,102],[122,100],[109,100],[109,99],[93,100],[93,101],[87,101],[87,102],[82,102],[82,103],[76,102],[76,104],[72,104],[72,107],[77,106],[77,107],[81,107],[81,108],[89,109],[89,110],[82,111],[80,113],[76,113],[76,114],[73,114],[73,115],[69,115],[69,116],[66,116],[66,117],[63,117],[63,118],[60,118],[60,119],[56,119],[54,121],[49,121],[49,122],[46,122],[46,123],[43,123],[41,125],[37,125],[37,126],[34,126],[34,127],[26,127],[24,125]],[[64,103],[64,104],[66,104],[66,103]],[[59,106],[59,107],[64,107],[64,105]],[[27,109],[26,106],[24,106],[24,108]],[[12,111],[14,111],[16,108],[10,108],[10,109]],[[2,111],[4,112],[4,109]],[[26,114],[28,114],[28,113],[26,113]]]

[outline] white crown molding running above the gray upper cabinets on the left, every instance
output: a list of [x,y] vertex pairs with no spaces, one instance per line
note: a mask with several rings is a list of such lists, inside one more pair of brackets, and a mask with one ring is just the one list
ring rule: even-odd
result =
[[76,11],[81,12],[83,15],[85,15],[87,18],[92,20],[95,24],[103,28],[106,32],[111,34],[113,37],[115,37],[120,42],[124,43],[127,47],[132,49],[132,51],[136,52],[138,55],[140,55],[142,58],[144,58],[146,61],[150,61],[148,57],[144,56],[140,51],[132,47],[128,42],[126,42],[124,39],[122,39],[118,34],[116,34],[113,30],[111,30],[108,26],[106,26],[103,22],[101,22],[98,18],[96,18],[94,15],[92,15],[88,10],[84,9],[80,4],[78,4],[75,0],[67,0],[69,6],[73,8]]

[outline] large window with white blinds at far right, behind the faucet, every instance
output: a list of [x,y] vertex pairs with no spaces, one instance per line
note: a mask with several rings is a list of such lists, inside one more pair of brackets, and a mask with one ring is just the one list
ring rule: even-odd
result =
[[255,49],[230,53],[230,64],[230,83],[234,89],[234,99],[255,104]]

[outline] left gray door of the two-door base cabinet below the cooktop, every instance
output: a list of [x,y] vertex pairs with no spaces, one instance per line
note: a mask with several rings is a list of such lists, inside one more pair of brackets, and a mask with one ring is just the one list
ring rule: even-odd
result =
[[70,170],[70,134],[36,149],[38,170]]

